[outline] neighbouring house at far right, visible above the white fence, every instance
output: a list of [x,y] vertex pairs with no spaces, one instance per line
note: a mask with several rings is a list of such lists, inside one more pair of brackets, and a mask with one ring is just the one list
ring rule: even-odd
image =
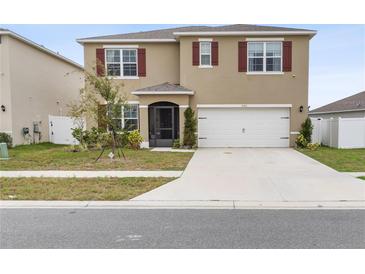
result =
[[365,91],[309,112],[311,118],[365,118]]

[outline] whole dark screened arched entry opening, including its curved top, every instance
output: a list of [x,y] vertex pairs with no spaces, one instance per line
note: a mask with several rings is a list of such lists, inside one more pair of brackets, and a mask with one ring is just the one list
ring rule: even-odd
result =
[[151,147],[171,147],[180,138],[179,106],[157,102],[148,106],[149,143]]

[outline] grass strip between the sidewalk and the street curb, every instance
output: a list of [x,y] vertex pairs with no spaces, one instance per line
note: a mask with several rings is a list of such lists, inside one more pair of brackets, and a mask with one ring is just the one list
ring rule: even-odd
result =
[[1,178],[0,200],[129,200],[173,178]]

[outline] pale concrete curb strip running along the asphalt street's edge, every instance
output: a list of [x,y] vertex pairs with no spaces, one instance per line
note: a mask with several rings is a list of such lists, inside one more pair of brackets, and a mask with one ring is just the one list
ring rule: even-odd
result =
[[114,209],[365,209],[365,201],[8,201],[0,208]]

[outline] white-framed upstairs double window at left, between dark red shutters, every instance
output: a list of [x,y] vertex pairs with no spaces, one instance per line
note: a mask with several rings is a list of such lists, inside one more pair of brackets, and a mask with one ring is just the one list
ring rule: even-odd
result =
[[107,76],[137,76],[137,50],[107,49],[106,71]]

